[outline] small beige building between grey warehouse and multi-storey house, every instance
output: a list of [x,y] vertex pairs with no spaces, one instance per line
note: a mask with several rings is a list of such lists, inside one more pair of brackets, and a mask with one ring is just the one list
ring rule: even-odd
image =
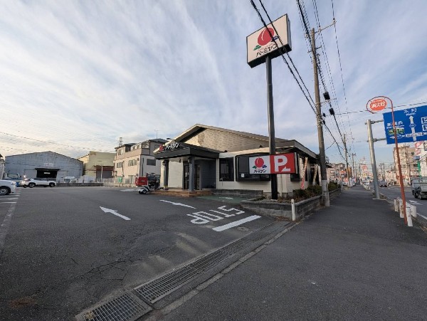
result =
[[79,157],[78,160],[83,162],[83,176],[93,181],[101,179],[110,179],[114,172],[115,153],[93,152]]

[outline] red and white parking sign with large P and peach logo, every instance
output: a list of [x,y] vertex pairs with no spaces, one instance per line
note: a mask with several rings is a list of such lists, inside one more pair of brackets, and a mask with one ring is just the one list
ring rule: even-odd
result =
[[249,157],[250,174],[295,174],[295,153]]

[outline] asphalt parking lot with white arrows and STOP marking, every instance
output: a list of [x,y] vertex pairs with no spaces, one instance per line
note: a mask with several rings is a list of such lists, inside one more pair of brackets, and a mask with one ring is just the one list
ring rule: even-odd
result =
[[73,320],[266,226],[228,199],[111,187],[19,188],[0,196],[0,315]]

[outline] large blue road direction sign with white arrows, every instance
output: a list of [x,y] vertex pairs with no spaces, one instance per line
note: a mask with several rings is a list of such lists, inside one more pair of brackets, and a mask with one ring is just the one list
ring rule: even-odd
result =
[[[384,129],[387,144],[394,144],[391,112],[384,112]],[[427,140],[427,105],[394,111],[397,142],[419,142]]]

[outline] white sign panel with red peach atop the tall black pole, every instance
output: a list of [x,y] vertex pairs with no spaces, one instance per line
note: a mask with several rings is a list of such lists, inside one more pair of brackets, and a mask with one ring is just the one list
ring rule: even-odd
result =
[[[274,26],[274,28],[273,28]],[[276,32],[277,31],[277,32]],[[273,36],[273,38],[272,38]],[[290,21],[288,14],[260,28],[246,37],[248,65],[251,68],[264,63],[265,56],[280,56],[292,50],[290,46]]]

